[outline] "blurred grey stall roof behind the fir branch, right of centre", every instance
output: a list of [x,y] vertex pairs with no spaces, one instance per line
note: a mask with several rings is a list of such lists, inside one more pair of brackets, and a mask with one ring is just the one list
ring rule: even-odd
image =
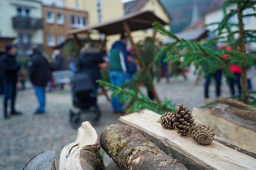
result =
[[[182,31],[180,33],[176,33],[177,37],[184,38],[189,41],[199,41],[207,36],[207,30],[204,28],[193,29],[189,31]],[[164,45],[173,42],[172,39],[167,39],[163,42]]]

